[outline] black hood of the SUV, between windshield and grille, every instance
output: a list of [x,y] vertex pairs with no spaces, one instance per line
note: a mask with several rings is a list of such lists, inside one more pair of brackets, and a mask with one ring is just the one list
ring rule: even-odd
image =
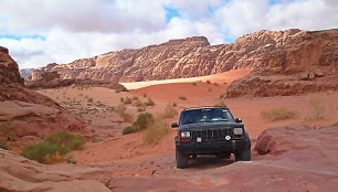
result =
[[201,130],[201,129],[224,129],[224,128],[234,128],[243,127],[243,124],[239,122],[229,122],[229,121],[214,121],[214,122],[198,122],[198,124],[186,124],[179,127],[180,130]]

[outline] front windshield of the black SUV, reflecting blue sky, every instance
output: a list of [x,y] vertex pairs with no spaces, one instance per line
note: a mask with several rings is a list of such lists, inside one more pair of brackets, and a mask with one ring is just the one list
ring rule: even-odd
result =
[[233,121],[233,117],[226,108],[199,108],[183,110],[180,116],[180,125],[197,122]]

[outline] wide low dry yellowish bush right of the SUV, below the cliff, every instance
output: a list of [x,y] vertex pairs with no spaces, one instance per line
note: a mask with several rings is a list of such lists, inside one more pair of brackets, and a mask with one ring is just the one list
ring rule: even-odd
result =
[[298,111],[291,110],[285,107],[281,108],[273,108],[270,110],[261,111],[261,117],[268,121],[276,121],[276,120],[285,120],[285,119],[294,119],[298,116]]

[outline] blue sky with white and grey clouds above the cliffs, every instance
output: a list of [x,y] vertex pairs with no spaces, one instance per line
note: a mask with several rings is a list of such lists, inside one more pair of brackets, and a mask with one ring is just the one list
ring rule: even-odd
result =
[[337,0],[0,0],[0,46],[20,68],[170,39],[221,44],[260,30],[337,28]]

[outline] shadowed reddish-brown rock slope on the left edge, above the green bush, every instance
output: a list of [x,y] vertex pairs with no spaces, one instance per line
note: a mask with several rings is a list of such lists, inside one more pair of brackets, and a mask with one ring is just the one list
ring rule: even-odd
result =
[[[53,99],[23,86],[18,64],[8,50],[0,52],[0,126],[10,131],[11,140],[24,136],[45,136],[60,131],[85,130],[84,122]],[[8,139],[8,132],[0,131],[0,139]]]

